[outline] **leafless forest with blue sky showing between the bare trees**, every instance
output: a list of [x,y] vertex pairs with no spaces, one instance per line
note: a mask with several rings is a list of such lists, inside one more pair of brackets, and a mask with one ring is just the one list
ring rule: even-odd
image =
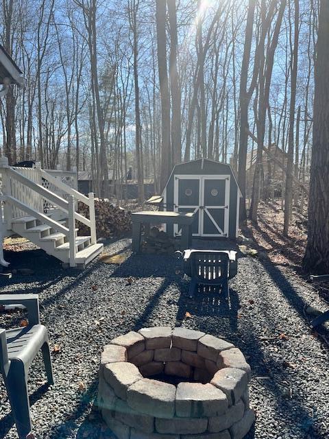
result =
[[[1,102],[1,153],[12,164],[90,171],[98,196],[110,194],[110,181],[120,189],[132,167],[140,201],[145,180],[159,193],[175,163],[206,157],[236,171],[247,198],[241,220],[246,206],[256,222],[261,199],[281,198],[288,235],[292,206],[303,213],[311,191],[313,212],[323,214],[312,228],[323,230],[328,181],[315,189],[310,163],[313,102],[325,105],[328,93],[326,43],[317,93],[315,81],[328,8],[318,0],[2,0],[2,44],[26,86]],[[323,169],[328,145],[320,150]],[[315,234],[320,247],[328,229]],[[329,271],[328,251],[315,258],[321,270]]]

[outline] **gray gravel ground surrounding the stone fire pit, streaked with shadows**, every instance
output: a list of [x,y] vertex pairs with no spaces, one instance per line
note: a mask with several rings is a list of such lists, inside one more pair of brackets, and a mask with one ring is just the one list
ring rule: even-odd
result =
[[[106,252],[129,248],[130,240],[121,239]],[[93,410],[101,347],[132,329],[160,324],[200,329],[241,348],[252,367],[256,410],[247,439],[329,438],[328,346],[311,333],[304,315],[315,293],[286,268],[239,259],[228,308],[208,296],[190,300],[188,279],[175,277],[171,257],[131,256],[120,266],[95,261],[84,272],[62,270],[42,250],[6,257],[13,268],[35,273],[0,277],[1,292],[38,292],[42,322],[57,345],[56,384],[45,388],[39,357],[29,375],[36,438],[110,437]],[[0,326],[17,319],[16,313],[2,315]],[[2,381],[0,437],[17,438]]]

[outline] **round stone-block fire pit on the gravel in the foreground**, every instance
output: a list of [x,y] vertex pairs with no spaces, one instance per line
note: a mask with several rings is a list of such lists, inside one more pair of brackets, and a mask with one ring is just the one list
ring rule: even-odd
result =
[[254,423],[250,375],[225,340],[143,328],[104,346],[98,405],[119,439],[241,439]]

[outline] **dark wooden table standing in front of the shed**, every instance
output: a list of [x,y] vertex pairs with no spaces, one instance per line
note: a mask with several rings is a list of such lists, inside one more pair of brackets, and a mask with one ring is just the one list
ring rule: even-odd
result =
[[179,224],[182,226],[180,247],[191,247],[194,213],[142,211],[132,213],[132,251],[141,250],[142,224]]

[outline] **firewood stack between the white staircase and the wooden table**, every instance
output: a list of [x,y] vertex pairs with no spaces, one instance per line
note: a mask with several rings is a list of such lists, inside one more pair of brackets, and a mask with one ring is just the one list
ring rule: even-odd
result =
[[[79,203],[79,213],[89,217],[89,209],[86,204]],[[132,230],[132,217],[130,211],[125,211],[115,206],[108,199],[95,198],[95,217],[97,238],[110,238],[125,235]],[[90,229],[80,223],[79,235],[90,235]]]

